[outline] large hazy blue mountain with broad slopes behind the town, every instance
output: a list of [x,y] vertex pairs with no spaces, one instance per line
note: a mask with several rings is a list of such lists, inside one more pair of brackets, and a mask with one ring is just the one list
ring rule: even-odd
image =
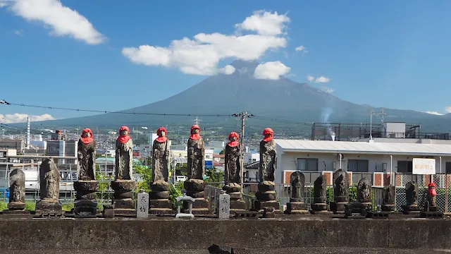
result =
[[[125,112],[152,112],[185,114],[192,116],[142,116],[127,114],[101,114],[45,121],[51,126],[161,126],[163,124],[190,125],[196,114],[232,114],[248,111],[289,121],[369,122],[369,111],[379,111],[367,104],[346,102],[307,83],[296,83],[288,78],[257,80],[253,73],[258,63],[235,61],[237,71],[232,75],[214,75],[177,95],[159,102],[124,110]],[[391,116],[386,121],[421,123],[422,131],[450,132],[451,116],[435,116],[412,110],[385,109]],[[203,117],[203,124],[235,125],[235,119]],[[375,121],[378,121],[375,119]],[[254,124],[268,126],[268,121],[254,120]],[[271,124],[278,124],[271,122]],[[282,123],[280,123],[282,124]],[[286,123],[285,123],[286,124]]]

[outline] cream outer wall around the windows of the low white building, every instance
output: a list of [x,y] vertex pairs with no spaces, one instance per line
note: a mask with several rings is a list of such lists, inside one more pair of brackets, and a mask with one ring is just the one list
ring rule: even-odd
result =
[[[313,153],[313,152],[282,152],[277,150],[277,169],[275,183],[283,183],[284,170],[297,170],[298,158],[312,158],[318,159],[318,171],[335,171],[340,169],[340,159],[337,153]],[[344,155],[342,159],[342,169],[347,169],[347,162],[349,159],[368,159],[369,172],[397,172],[397,161],[412,162],[414,157],[393,155],[393,160],[390,161],[390,155]],[[440,157],[433,157],[435,159],[435,171],[440,173]],[[392,164],[393,162],[393,164]],[[441,172],[445,173],[446,162],[451,162],[451,157],[442,157]],[[335,168],[333,167],[335,163]],[[384,166],[386,164],[386,166]],[[386,170],[383,170],[386,167]]]

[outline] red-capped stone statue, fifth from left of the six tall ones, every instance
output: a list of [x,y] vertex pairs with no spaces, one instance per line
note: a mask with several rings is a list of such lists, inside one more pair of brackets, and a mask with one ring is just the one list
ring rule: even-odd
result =
[[225,149],[224,184],[241,183],[241,145],[238,143],[238,133],[232,132],[228,136],[230,142]]

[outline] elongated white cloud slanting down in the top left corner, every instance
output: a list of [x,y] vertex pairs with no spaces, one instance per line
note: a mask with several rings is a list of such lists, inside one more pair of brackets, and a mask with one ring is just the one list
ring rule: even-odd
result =
[[25,20],[44,23],[44,27],[51,29],[50,35],[71,36],[87,44],[100,44],[105,40],[87,18],[63,6],[59,0],[12,0],[6,5]]

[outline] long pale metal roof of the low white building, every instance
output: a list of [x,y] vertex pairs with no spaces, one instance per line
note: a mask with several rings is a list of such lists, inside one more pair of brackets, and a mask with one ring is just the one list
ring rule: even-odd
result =
[[451,156],[451,145],[412,143],[367,143],[326,140],[280,140],[278,147],[285,152],[337,152],[384,155]]

